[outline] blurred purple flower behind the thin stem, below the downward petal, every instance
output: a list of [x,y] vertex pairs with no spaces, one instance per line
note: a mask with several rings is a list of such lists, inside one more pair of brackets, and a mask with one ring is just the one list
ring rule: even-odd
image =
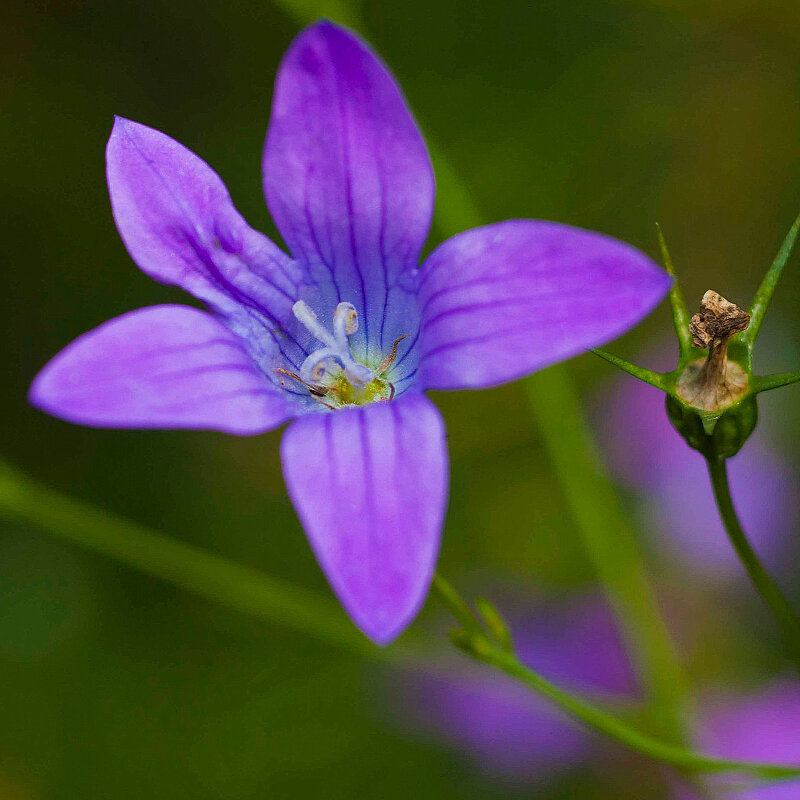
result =
[[[514,637],[520,658],[562,686],[628,700],[636,693],[612,615],[594,597],[540,604]],[[463,669],[408,678],[394,693],[396,715],[511,781],[541,780],[590,756],[596,738],[544,699],[502,675]]]

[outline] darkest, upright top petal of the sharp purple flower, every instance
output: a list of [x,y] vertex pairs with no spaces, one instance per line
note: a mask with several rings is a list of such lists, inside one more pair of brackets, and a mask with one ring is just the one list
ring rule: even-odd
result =
[[303,31],[281,65],[264,188],[291,252],[327,287],[325,314],[352,302],[359,341],[391,345],[401,334],[383,330],[385,310],[404,302],[397,278],[419,262],[433,171],[394,78],[329,22]]

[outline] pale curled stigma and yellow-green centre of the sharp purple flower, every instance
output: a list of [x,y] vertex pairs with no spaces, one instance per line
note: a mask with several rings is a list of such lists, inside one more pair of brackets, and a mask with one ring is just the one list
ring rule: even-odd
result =
[[[314,400],[330,409],[363,406],[394,397],[394,384],[386,373],[397,357],[397,345],[406,336],[397,339],[386,358],[371,369],[356,361],[350,350],[349,337],[358,330],[358,312],[352,303],[336,306],[332,332],[320,323],[305,301],[298,300],[292,312],[322,347],[307,356],[299,374],[280,368],[276,372],[305,386]],[[285,385],[283,381],[281,385]]]

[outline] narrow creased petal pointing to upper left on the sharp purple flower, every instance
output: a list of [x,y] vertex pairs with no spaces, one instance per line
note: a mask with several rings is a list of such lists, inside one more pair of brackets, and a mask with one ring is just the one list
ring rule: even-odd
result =
[[169,136],[121,117],[106,164],[114,219],[139,267],[301,363],[304,352],[275,330],[294,325],[299,267],[247,225],[219,175]]

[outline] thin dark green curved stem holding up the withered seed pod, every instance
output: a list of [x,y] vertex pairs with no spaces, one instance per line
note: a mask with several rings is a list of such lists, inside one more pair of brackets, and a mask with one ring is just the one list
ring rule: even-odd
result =
[[725,459],[712,457],[707,459],[707,463],[708,472],[711,476],[711,485],[714,488],[714,497],[717,500],[717,508],[725,525],[725,530],[728,532],[736,554],[753,581],[753,585],[764,598],[773,617],[775,617],[789,656],[795,662],[798,670],[800,670],[800,619],[798,619],[789,602],[783,596],[783,592],[778,588],[778,585],[764,569],[739,523],[739,518],[736,515],[736,509],[733,507],[733,500],[731,499]]

